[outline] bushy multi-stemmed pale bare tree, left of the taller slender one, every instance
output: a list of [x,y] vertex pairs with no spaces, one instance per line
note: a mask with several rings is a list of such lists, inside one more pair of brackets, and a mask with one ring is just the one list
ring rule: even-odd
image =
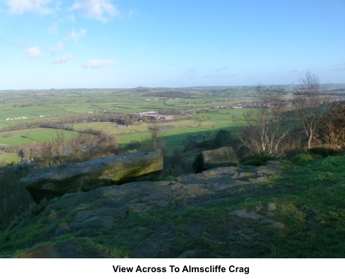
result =
[[239,135],[242,144],[252,154],[281,156],[288,127],[282,121],[286,102],[282,87],[257,85],[255,107],[244,113],[245,126]]

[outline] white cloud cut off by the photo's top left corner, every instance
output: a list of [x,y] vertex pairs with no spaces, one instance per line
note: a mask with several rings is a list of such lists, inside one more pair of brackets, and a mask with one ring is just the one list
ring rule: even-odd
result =
[[50,14],[49,7],[51,0],[6,0],[10,14],[23,14],[33,12],[34,14]]

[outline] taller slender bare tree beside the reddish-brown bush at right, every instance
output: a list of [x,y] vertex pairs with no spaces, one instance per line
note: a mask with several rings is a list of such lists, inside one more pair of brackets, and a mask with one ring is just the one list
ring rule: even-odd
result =
[[326,95],[328,85],[322,85],[319,76],[310,71],[299,79],[299,84],[293,88],[294,105],[297,122],[302,127],[308,140],[308,149],[312,147],[313,138],[322,121],[322,115],[328,105]]

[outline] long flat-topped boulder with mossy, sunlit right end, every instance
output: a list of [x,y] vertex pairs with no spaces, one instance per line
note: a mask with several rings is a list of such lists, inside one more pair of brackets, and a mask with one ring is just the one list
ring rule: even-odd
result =
[[21,178],[21,185],[40,200],[124,183],[161,169],[163,154],[156,149],[41,169]]

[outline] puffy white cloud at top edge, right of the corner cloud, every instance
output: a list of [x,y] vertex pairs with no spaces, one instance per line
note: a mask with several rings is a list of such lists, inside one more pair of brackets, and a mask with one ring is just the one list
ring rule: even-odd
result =
[[119,10],[110,0],[82,0],[75,2],[70,10],[80,12],[83,17],[97,19],[99,21],[110,21],[112,17],[119,14]]

